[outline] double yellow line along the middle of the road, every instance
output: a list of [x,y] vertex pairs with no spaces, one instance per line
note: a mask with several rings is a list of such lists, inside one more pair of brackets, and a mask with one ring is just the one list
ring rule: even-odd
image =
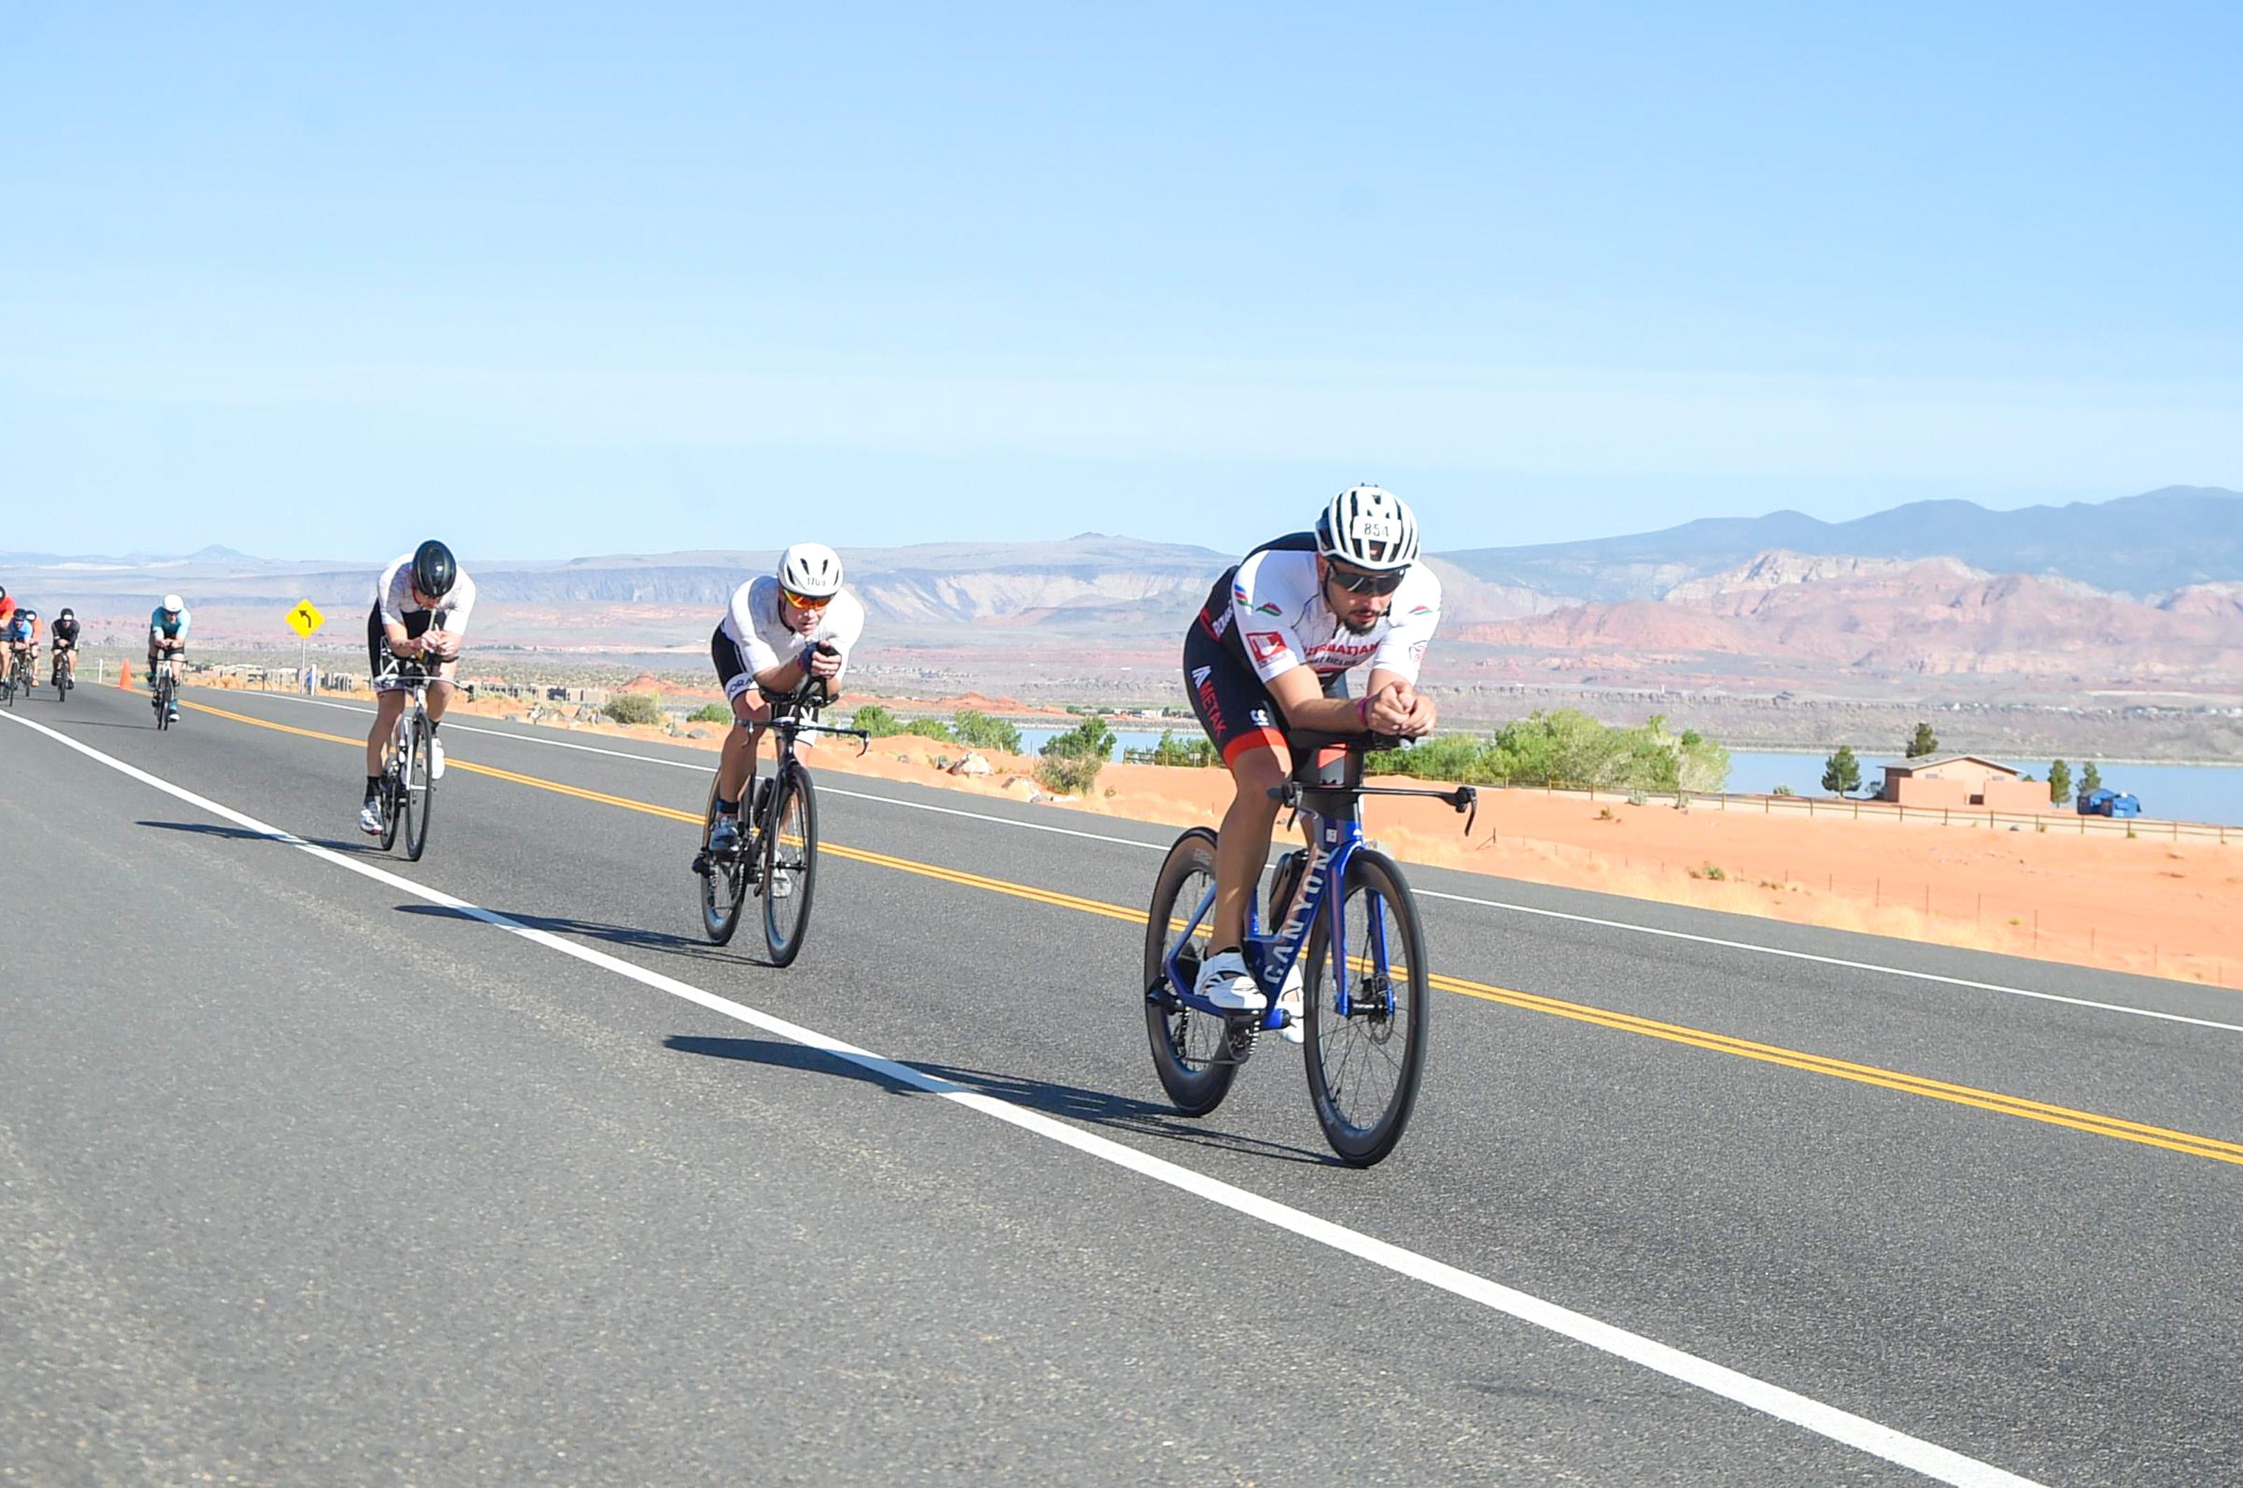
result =
[[[341,734],[298,729],[287,723],[271,723],[269,718],[251,718],[249,714],[233,714],[222,707],[211,707],[206,702],[186,702],[186,707],[200,714],[211,714],[215,718],[231,718],[233,723],[247,723],[260,729],[274,729],[280,734],[296,734],[301,738],[323,738],[327,743],[363,747],[361,738],[343,738]],[[449,765],[453,770],[489,774],[493,779],[511,781],[516,786],[552,790],[556,794],[574,797],[579,801],[617,806],[621,810],[637,810],[650,817],[668,817],[671,821],[686,821],[691,826],[702,824],[700,812],[675,810],[671,806],[655,806],[653,801],[633,801],[630,797],[610,797],[599,790],[585,790],[581,786],[563,786],[561,781],[547,781],[536,774],[516,774],[514,770],[498,770],[496,765],[471,765],[460,759],[449,761]],[[962,889],[982,889],[987,893],[1005,893],[1018,900],[1030,900],[1034,904],[1052,904],[1056,909],[1095,913],[1108,920],[1122,920],[1124,925],[1146,922],[1146,913],[1142,909],[1130,909],[1126,904],[1086,900],[1074,893],[1036,889],[1032,884],[1014,884],[1003,878],[985,878],[980,873],[942,869],[931,862],[915,862],[911,857],[890,857],[888,853],[870,853],[866,848],[848,848],[830,842],[819,844],[819,851],[832,853],[834,857],[848,857],[850,862],[873,864],[877,869],[893,869],[897,873],[933,878],[938,882],[958,884]],[[2073,1131],[2088,1131],[2120,1142],[2140,1142],[2144,1147],[2162,1147],[2167,1151],[2180,1151],[2191,1158],[2212,1158],[2214,1163],[2243,1165],[2243,1142],[2227,1142],[2212,1136],[2196,1136],[2194,1131],[2149,1127],[2144,1122],[2129,1122],[2115,1115],[2097,1115],[2095,1111],[2073,1111],[2070,1106],[2052,1106],[2048,1102],[2025,1100],[2021,1095],[2003,1095],[1999,1091],[1981,1091],[1976,1086],[1949,1084],[1945,1080],[1929,1080],[1924,1075],[1907,1075],[1902,1071],[1889,1071],[1875,1064],[1850,1064],[1846,1059],[1833,1059],[1828,1055],[1810,1055],[1797,1048],[1783,1048],[1779,1044],[1756,1044],[1752,1039],[1736,1039],[1725,1032],[1707,1032],[1702,1028],[1689,1028],[1684,1023],[1662,1023],[1658,1019],[1635,1017],[1633,1012],[1613,1012],[1608,1008],[1590,1008],[1588,1003],[1568,1003],[1557,996],[1541,996],[1536,992],[1516,992],[1512,988],[1494,988],[1480,981],[1467,981],[1462,976],[1447,976],[1440,972],[1433,972],[1427,981],[1440,988],[1442,992],[1456,992],[1458,996],[1474,996],[1485,1003],[1503,1003],[1507,1008],[1523,1008],[1525,1012],[1545,1012],[1550,1017],[1572,1019],[1577,1023],[1595,1023],[1597,1028],[1633,1032],[1646,1039],[1664,1039],[1669,1044],[1705,1048],[1718,1055],[1734,1055],[1738,1059],[1756,1059],[1761,1064],[1781,1064],[1783,1068],[1806,1071],[1810,1075],[1828,1075],[1830,1080],[1873,1084],[1886,1091],[1900,1091],[1904,1095],[1922,1095],[1924,1100],[1945,1100],[1958,1106],[1994,1111],[1999,1115],[2048,1122],[2052,1127],[2070,1127]]]

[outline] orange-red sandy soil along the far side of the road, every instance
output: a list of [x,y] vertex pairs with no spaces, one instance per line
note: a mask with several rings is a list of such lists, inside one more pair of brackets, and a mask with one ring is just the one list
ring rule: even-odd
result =
[[[913,707],[904,698],[881,702]],[[926,707],[1032,711],[978,694]],[[484,700],[469,711],[518,716],[520,705]],[[718,745],[713,732],[682,741],[650,727],[574,727]],[[899,736],[875,741],[864,759],[855,747],[825,745],[812,761],[819,770],[1016,801],[1041,794],[1030,759],[982,752],[994,768],[987,777],[953,777],[931,763],[960,754],[958,745]],[[1191,826],[1216,824],[1229,797],[1220,770],[1115,763],[1099,774],[1092,799],[1063,808]],[[1480,792],[1469,839],[1462,817],[1436,801],[1370,801],[1366,826],[1404,862],[2243,988],[2243,931],[2232,916],[2243,902],[2243,835],[2225,844],[2162,839],[2158,826],[2144,824],[2131,839],[2079,837],[1983,821],[1759,815],[1705,803],[1678,810],[1664,801],[1628,806],[1492,788]]]

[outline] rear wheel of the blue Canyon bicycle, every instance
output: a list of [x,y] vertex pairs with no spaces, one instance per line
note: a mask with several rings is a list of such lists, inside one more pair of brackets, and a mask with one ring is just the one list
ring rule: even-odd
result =
[[1216,835],[1196,826],[1175,839],[1153,880],[1153,904],[1144,922],[1144,1032],[1153,1044],[1153,1073],[1184,1115],[1207,1115],[1231,1093],[1243,1048],[1234,1046],[1229,1021],[1175,999],[1169,956],[1184,985],[1200,976],[1213,949],[1213,911],[1187,936],[1184,922],[1216,887]]

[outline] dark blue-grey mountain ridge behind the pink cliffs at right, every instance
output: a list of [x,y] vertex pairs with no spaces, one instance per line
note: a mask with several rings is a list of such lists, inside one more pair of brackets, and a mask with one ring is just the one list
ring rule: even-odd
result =
[[2059,575],[2149,597],[2243,579],[2243,494],[2169,485],[2122,500],[1990,512],[1918,500],[1848,523],[1803,512],[1711,516],[1588,543],[1469,548],[1444,554],[1487,579],[1568,599],[1658,599],[1678,584],[1785,550],[1857,559],[1960,559],[1999,575]]

